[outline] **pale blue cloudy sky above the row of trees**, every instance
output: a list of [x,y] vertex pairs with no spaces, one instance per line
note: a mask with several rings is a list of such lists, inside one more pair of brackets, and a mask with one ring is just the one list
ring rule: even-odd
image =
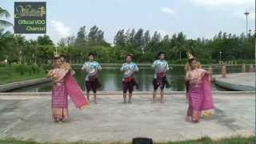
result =
[[[220,30],[232,34],[254,30],[254,0],[17,0],[46,2],[46,34],[56,44],[60,38],[76,35],[79,27],[96,25],[104,31],[106,42],[113,43],[121,29],[142,28],[172,35],[183,32],[186,38],[213,38]],[[14,23],[14,1],[0,0]],[[11,28],[9,28],[11,30]],[[42,34],[23,34],[37,38]]]

